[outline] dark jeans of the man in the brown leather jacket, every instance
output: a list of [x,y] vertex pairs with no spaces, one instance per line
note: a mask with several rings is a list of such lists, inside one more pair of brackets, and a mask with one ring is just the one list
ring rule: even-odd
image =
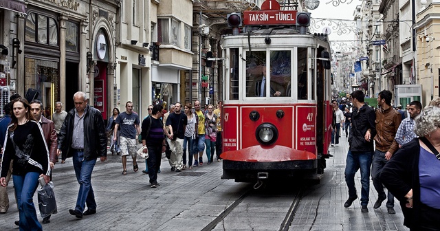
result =
[[[384,168],[386,162],[388,160],[385,159],[385,153],[379,150],[374,151],[373,157],[373,165],[371,166],[371,178],[373,178],[373,186],[379,195],[379,199],[385,199],[386,194],[384,191],[384,186],[379,179],[380,173],[382,172],[382,168]],[[394,196],[388,191],[388,200],[386,201],[387,208],[394,208]]]

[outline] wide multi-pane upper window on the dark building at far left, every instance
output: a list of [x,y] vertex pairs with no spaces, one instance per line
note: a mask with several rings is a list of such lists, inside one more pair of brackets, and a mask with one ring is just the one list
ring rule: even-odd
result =
[[47,45],[58,45],[58,24],[52,17],[30,13],[26,18],[25,40]]

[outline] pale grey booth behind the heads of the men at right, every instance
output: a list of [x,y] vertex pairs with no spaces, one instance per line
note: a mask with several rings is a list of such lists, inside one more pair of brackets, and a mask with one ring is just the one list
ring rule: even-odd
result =
[[[401,104],[402,109],[414,100],[421,102],[421,85],[395,85],[394,93],[395,106]],[[423,102],[421,104],[423,105]]]

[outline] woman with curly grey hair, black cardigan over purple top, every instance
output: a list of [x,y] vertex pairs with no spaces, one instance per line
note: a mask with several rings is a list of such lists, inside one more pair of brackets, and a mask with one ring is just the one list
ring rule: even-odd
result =
[[[385,164],[380,179],[399,199],[410,230],[440,230],[440,108],[415,119],[415,138]],[[436,156],[437,155],[437,156]]]

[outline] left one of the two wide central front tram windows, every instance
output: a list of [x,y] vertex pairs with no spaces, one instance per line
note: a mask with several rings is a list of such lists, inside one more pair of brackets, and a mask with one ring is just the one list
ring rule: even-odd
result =
[[266,52],[246,52],[246,97],[265,97]]

